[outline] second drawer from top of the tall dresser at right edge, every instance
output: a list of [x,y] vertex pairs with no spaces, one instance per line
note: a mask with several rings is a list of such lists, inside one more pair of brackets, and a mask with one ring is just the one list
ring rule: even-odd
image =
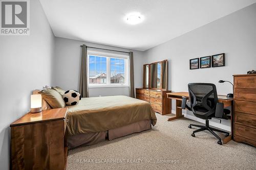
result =
[[234,99],[249,101],[249,102],[256,102],[256,89],[236,88],[234,89]]

